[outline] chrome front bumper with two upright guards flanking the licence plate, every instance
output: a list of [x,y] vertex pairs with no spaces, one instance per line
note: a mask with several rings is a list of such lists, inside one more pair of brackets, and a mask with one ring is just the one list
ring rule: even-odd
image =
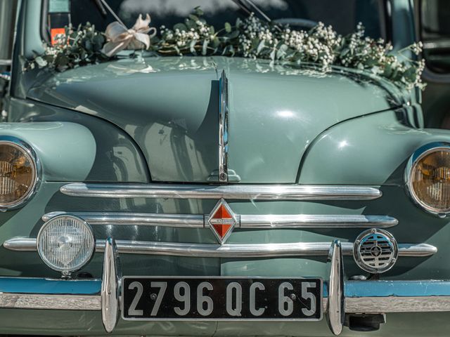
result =
[[[104,244],[102,279],[0,277],[0,308],[101,311],[106,332],[120,317],[120,263],[114,239]],[[335,335],[345,314],[450,311],[450,281],[345,281],[342,245],[328,254],[330,277],[324,282],[323,312]]]

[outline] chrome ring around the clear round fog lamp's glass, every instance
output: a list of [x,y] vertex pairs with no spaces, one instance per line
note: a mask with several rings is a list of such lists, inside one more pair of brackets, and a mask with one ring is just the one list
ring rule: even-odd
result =
[[[86,255],[86,258],[84,258],[81,263],[78,263],[77,265],[74,265],[71,268],[58,267],[58,265],[51,263],[49,258],[42,252],[42,246],[40,243],[41,235],[44,232],[44,230],[46,229],[46,227],[48,227],[49,225],[51,225],[51,223],[53,223],[54,221],[61,219],[61,218],[72,218],[72,219],[75,219],[75,220],[79,221],[80,223],[82,223],[82,225],[84,225],[89,230],[89,234],[91,235],[91,239],[93,241],[93,246],[90,247],[89,253],[88,253],[88,255]],[[60,216],[54,216],[50,220],[46,221],[46,223],[44,223],[44,225],[42,225],[41,229],[37,233],[36,248],[37,248],[37,253],[39,254],[39,257],[48,267],[50,267],[51,269],[53,269],[57,272],[61,272],[63,275],[70,275],[72,272],[76,272],[76,271],[82,269],[82,267],[87,265],[91,261],[91,259],[94,257],[94,253],[96,250],[96,238],[95,238],[94,231],[92,230],[91,225],[89,225],[89,223],[86,223],[85,220],[83,220],[79,216],[73,216],[72,214],[61,214]]]

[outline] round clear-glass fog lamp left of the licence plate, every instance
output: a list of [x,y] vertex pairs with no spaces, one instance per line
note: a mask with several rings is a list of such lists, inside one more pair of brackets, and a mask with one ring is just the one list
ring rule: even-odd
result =
[[91,227],[76,216],[56,216],[37,234],[37,251],[51,269],[69,275],[91,260],[95,249]]

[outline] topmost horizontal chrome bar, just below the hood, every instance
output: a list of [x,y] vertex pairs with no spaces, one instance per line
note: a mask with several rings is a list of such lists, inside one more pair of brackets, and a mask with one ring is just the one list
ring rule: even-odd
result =
[[372,200],[382,196],[376,187],[332,185],[71,183],[60,187],[60,192],[71,197],[241,200]]

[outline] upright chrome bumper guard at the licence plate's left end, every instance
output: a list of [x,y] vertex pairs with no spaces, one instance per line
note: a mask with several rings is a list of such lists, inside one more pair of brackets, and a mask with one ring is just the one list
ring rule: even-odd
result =
[[105,253],[103,254],[103,273],[101,283],[101,319],[105,331],[113,332],[119,319],[120,298],[120,270],[117,247],[113,238],[105,240]]

